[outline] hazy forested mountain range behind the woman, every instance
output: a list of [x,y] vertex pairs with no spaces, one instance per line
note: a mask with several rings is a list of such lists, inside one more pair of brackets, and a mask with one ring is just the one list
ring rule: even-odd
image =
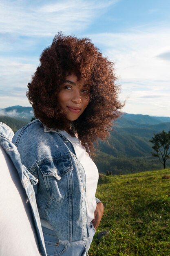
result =
[[[33,116],[31,107],[11,106],[0,110],[0,121],[14,132],[29,123]],[[149,140],[162,130],[170,130],[170,117],[124,113],[113,125],[108,142],[99,141],[95,156],[99,171],[119,174],[161,169],[158,158],[151,155]],[[170,159],[167,167],[170,167]]]

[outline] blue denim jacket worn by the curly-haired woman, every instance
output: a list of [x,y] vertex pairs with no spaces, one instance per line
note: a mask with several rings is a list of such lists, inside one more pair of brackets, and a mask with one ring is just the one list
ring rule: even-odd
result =
[[60,243],[86,245],[86,177],[72,143],[38,119],[18,130],[13,143],[39,179],[34,189],[40,218],[50,223]]

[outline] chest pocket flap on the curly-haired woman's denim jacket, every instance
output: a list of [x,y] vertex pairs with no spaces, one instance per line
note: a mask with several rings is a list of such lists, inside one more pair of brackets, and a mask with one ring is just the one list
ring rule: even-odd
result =
[[71,157],[49,160],[40,164],[39,167],[43,175],[52,175],[57,180],[61,180],[68,171],[73,170]]

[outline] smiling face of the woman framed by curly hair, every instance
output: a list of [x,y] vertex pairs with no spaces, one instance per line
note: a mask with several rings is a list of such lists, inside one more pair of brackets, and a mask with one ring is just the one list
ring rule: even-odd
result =
[[66,76],[66,80],[57,94],[60,106],[66,112],[66,119],[75,121],[88,105],[90,99],[89,85],[84,79],[77,80],[74,74]]

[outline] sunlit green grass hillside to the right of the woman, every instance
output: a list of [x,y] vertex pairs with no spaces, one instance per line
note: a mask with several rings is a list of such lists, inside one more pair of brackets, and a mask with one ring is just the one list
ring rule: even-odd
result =
[[170,176],[164,175],[170,169],[99,178],[105,211],[89,256],[170,256]]

